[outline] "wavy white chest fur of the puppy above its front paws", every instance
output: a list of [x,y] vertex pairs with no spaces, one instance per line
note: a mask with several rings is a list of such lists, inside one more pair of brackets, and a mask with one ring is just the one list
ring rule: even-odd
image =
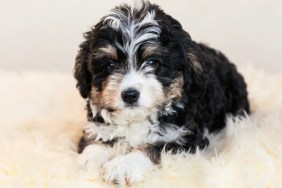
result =
[[189,134],[189,130],[172,124],[160,128],[158,123],[152,125],[146,120],[128,125],[97,125],[91,122],[86,126],[85,133],[88,139],[106,142],[118,138],[136,148],[143,144],[154,143],[184,144],[182,137]]

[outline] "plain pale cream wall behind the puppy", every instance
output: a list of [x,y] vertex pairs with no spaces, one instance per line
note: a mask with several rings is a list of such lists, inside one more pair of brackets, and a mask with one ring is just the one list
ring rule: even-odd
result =
[[[126,0],[0,0],[0,69],[70,72],[82,33]],[[281,72],[282,1],[152,0],[236,64]]]

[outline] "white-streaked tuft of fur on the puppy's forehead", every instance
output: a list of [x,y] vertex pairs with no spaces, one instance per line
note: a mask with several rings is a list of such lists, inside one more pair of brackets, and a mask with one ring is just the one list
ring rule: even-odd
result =
[[[155,11],[148,11],[148,4],[144,4],[143,12],[140,15],[141,18],[134,16],[134,11],[140,10],[140,6],[137,8],[131,8],[128,12],[123,12],[119,9],[114,9],[112,13],[105,17],[105,22],[122,32],[123,44],[117,45],[122,51],[127,53],[128,62],[132,66],[135,62],[134,55],[139,46],[148,41],[152,43],[160,35],[161,29],[159,24],[155,20]],[[145,26],[145,27],[144,27]],[[143,29],[141,29],[144,27]]]

